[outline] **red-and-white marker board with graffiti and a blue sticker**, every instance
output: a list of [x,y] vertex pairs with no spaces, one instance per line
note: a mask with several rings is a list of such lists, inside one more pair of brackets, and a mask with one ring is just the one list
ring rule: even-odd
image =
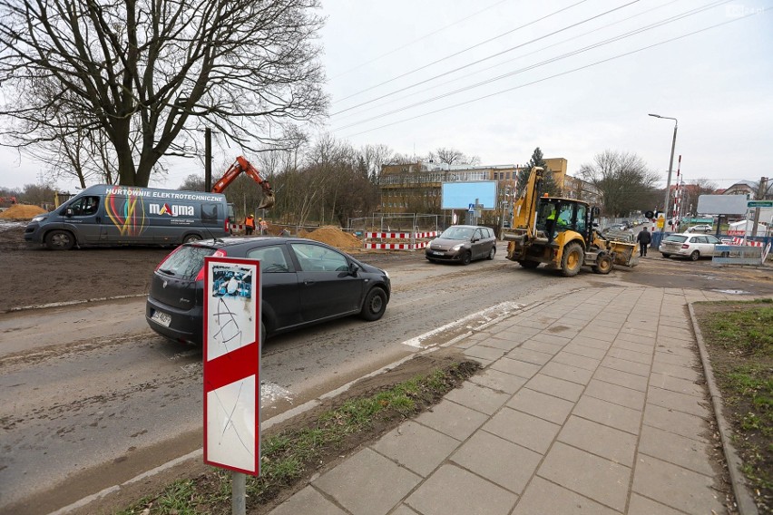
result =
[[204,462],[260,473],[260,264],[204,257]]

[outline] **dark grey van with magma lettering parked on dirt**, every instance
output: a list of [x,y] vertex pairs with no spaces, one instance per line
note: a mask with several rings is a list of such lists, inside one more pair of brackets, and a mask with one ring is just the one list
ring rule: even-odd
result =
[[221,193],[100,184],[34,217],[24,240],[55,250],[179,245],[229,236],[232,213]]

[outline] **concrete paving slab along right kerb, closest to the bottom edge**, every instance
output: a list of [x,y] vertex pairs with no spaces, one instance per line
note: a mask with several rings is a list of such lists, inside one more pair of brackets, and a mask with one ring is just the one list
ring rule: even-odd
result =
[[633,474],[633,491],[685,513],[724,513],[714,480],[698,472],[640,454]]

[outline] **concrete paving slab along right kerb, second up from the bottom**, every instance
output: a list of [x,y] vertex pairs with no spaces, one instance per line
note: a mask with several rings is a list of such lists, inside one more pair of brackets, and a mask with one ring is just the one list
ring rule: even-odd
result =
[[658,458],[663,462],[670,462],[690,469],[690,471],[713,476],[711,450],[712,447],[707,442],[680,436],[649,425],[641,427],[639,452]]

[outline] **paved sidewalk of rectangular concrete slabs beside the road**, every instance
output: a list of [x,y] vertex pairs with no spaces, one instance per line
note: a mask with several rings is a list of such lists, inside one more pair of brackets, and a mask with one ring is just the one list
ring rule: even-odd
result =
[[271,513],[724,513],[687,305],[729,298],[598,287],[500,320],[456,344],[480,374]]

